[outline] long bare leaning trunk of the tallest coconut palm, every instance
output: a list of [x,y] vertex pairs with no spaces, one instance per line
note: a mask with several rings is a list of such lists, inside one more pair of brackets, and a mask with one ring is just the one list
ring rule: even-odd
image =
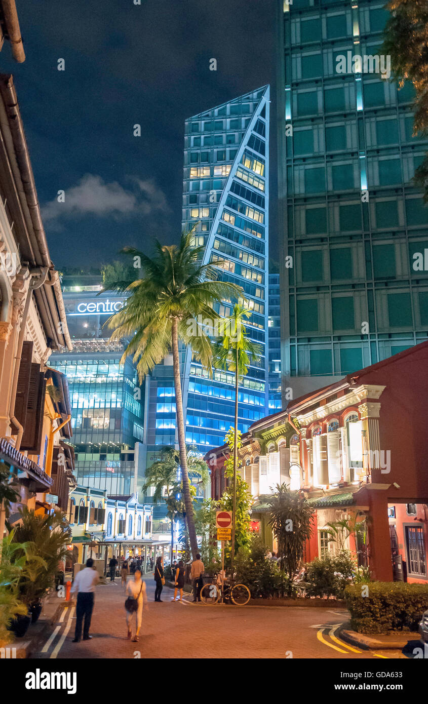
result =
[[186,436],[184,435],[183,397],[180,377],[180,356],[178,352],[178,320],[172,320],[172,360],[174,364],[174,386],[175,386],[175,408],[177,417],[178,447],[180,450],[180,467],[182,469],[183,495],[186,506],[187,529],[189,531],[189,542],[191,554],[196,560],[198,543],[196,541],[196,529],[194,523],[193,505],[191,503],[189,472],[187,471]]

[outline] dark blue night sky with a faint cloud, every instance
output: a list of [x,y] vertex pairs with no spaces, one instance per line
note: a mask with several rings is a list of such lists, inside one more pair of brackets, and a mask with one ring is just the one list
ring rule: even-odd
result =
[[14,76],[56,268],[107,263],[126,244],[149,251],[153,237],[177,241],[184,119],[266,83],[274,89],[275,1],[16,5],[26,60],[15,63],[5,42],[0,70]]

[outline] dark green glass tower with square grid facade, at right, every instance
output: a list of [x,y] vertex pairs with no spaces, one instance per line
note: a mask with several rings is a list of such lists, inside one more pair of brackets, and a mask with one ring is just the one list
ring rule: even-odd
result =
[[411,182],[428,139],[412,136],[411,85],[382,78],[383,5],[279,0],[282,374],[294,398],[428,335],[428,270],[413,268],[428,210]]

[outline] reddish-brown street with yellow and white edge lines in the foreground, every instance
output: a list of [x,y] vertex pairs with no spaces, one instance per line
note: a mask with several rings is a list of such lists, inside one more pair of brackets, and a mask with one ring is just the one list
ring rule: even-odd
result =
[[63,611],[49,638],[32,659],[53,658],[404,658],[398,651],[371,652],[341,641],[343,609],[234,606],[153,601],[153,577],[146,577],[149,608],[138,643],[127,639],[125,595],[120,579],[96,588],[90,641],[72,643],[75,608]]

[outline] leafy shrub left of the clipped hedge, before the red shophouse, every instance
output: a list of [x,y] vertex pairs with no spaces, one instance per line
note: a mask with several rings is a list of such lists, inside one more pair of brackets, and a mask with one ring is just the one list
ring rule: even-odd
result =
[[306,596],[343,599],[345,587],[353,580],[356,570],[355,558],[348,550],[315,558],[306,565]]

